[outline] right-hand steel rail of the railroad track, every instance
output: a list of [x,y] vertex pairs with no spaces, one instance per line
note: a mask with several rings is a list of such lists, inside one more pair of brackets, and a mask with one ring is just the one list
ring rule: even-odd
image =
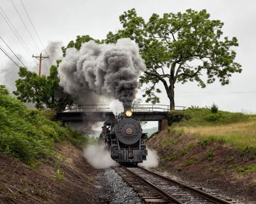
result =
[[197,188],[193,188],[191,186],[182,184],[182,183],[180,183],[180,182],[178,182],[176,180],[170,179],[170,178],[168,178],[166,176],[163,176],[163,175],[160,175],[160,174],[155,173],[153,171],[147,170],[147,169],[145,169],[143,167],[138,166],[138,168],[142,169],[143,171],[145,171],[147,173],[151,173],[153,175],[156,175],[156,176],[158,176],[158,177],[160,177],[160,178],[162,178],[162,179],[164,179],[164,180],[166,180],[166,181],[168,181],[170,183],[176,184],[176,185],[180,186],[181,188],[186,189],[186,190],[188,190],[188,191],[190,191],[190,192],[192,192],[192,193],[194,193],[196,195],[199,195],[199,196],[201,196],[201,197],[203,197],[203,198],[205,198],[205,199],[207,199],[207,200],[209,200],[211,202],[214,202],[216,204],[233,204],[233,202],[229,202],[227,200],[221,199],[219,197],[216,197],[214,195],[211,195],[209,193],[201,191],[201,190],[199,190]]

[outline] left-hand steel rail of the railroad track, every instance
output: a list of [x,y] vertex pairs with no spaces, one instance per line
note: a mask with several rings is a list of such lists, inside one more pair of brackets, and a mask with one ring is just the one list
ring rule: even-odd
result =
[[161,190],[160,188],[158,188],[157,186],[155,186],[151,182],[148,182],[147,180],[143,179],[141,176],[139,176],[138,174],[134,173],[133,171],[127,169],[124,166],[121,166],[121,168],[125,169],[127,172],[129,172],[129,173],[133,174],[135,177],[137,177],[140,181],[142,181],[143,183],[145,183],[148,186],[150,186],[151,188],[153,188],[156,192],[158,192],[160,195],[162,195],[168,201],[174,201],[175,203],[184,204],[184,202],[181,202],[180,200],[178,200],[174,196],[172,196],[172,195],[166,193],[165,191]]

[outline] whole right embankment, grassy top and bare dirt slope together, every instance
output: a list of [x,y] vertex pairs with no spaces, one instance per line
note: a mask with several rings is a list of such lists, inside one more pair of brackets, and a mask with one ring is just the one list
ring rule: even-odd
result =
[[147,140],[158,152],[158,170],[255,201],[256,115],[197,107],[185,114]]

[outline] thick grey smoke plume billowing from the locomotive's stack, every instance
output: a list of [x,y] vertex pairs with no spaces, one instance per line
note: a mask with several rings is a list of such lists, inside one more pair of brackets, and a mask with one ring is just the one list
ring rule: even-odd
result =
[[[59,84],[80,103],[96,102],[99,95],[131,106],[145,69],[138,46],[128,38],[116,44],[89,41],[81,49],[68,48],[59,65]],[[92,100],[91,100],[92,99]],[[87,101],[86,101],[87,100]]]

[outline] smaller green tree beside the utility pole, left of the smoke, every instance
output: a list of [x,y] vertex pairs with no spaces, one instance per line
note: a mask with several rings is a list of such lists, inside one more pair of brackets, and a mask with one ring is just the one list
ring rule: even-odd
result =
[[37,109],[50,108],[61,111],[67,105],[71,105],[73,100],[59,87],[57,73],[58,65],[51,66],[49,76],[42,75],[41,77],[36,72],[20,67],[18,72],[20,78],[16,80],[17,90],[13,93],[17,99],[25,103],[34,103]]

